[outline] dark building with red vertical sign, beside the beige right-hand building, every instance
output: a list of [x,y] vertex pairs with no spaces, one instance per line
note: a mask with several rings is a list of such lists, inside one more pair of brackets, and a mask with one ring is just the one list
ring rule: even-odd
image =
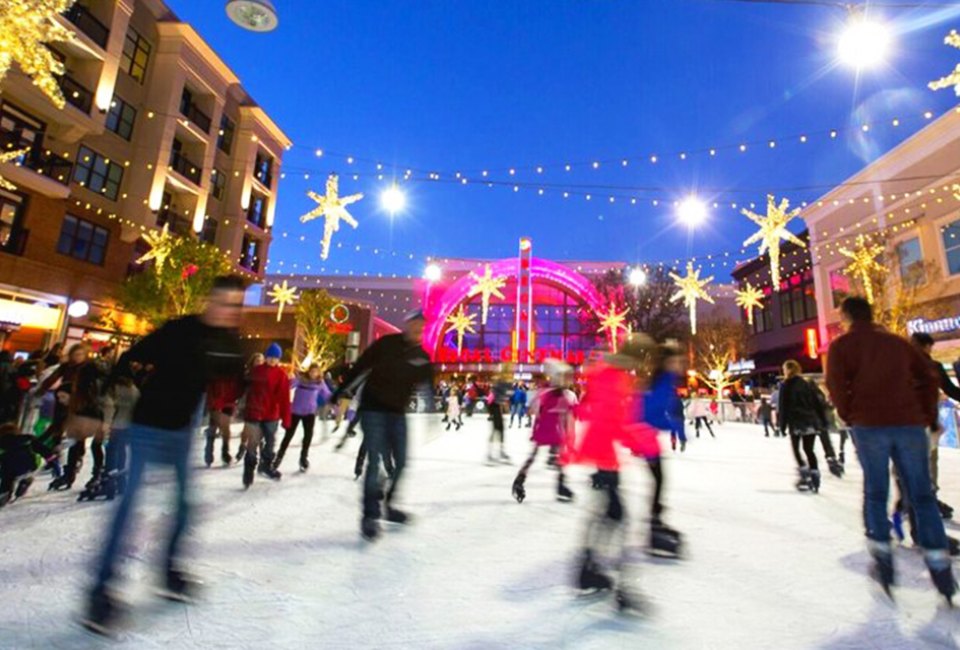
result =
[[[809,235],[799,239],[807,244]],[[784,361],[794,359],[805,370],[820,372],[820,354],[817,333],[817,300],[809,247],[786,242],[780,249],[780,284],[773,286],[770,275],[770,256],[761,255],[742,262],[733,269],[739,288],[747,283],[763,292],[762,306],[754,308],[753,323],[746,312],[741,318],[750,332],[751,373],[761,381],[781,373]]]

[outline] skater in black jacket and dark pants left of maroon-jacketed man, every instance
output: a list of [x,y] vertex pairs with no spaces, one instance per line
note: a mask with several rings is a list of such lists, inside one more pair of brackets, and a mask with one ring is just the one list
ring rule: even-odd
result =
[[[790,436],[793,456],[797,461],[800,480],[797,489],[820,491],[820,466],[817,463],[817,437],[827,426],[823,404],[814,393],[816,388],[803,378],[800,364],[790,359],[783,364],[784,381],[780,387],[777,418],[781,435]],[[806,462],[800,455],[800,447]]]

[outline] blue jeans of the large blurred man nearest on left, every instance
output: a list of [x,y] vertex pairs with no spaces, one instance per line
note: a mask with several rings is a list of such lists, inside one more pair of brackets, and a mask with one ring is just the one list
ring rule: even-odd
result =
[[167,544],[165,568],[174,567],[180,555],[180,544],[187,529],[190,514],[188,500],[190,445],[193,440],[193,427],[185,429],[158,429],[142,424],[132,424],[124,434],[124,440],[130,445],[130,474],[123,499],[114,513],[107,541],[96,573],[96,590],[106,588],[113,578],[117,559],[122,550],[124,537],[129,528],[130,517],[136,504],[137,495],[143,484],[143,472],[148,464],[173,467],[177,478],[177,493],[173,527]]

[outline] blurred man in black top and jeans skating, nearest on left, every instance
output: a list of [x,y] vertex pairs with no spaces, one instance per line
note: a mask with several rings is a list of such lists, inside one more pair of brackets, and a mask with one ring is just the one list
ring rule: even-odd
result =
[[198,582],[185,572],[181,557],[190,513],[190,447],[200,423],[200,405],[207,386],[217,377],[242,373],[236,328],[240,324],[243,292],[240,278],[216,278],[203,313],[169,321],[141,339],[126,355],[128,363],[149,365],[152,372],[141,387],[133,422],[127,430],[127,489],[100,547],[93,587],[87,597],[82,622],[94,632],[109,635],[117,621],[118,603],[112,594],[112,583],[148,464],[170,467],[177,482],[161,594],[189,601],[198,587]]

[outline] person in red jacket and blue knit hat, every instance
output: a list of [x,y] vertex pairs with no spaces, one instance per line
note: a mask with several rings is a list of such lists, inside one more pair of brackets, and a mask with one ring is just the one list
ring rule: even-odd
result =
[[266,363],[255,366],[247,377],[247,404],[243,414],[247,430],[244,488],[253,483],[254,470],[274,481],[280,480],[280,472],[273,466],[277,427],[281,421],[284,428],[290,427],[290,379],[280,367],[282,354],[280,346],[271,343],[263,355]]

